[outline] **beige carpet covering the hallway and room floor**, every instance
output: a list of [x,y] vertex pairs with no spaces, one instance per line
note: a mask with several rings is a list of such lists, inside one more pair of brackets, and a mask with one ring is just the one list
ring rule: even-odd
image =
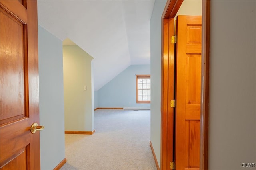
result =
[[93,135],[65,135],[61,170],[156,170],[150,149],[150,110],[95,111]]

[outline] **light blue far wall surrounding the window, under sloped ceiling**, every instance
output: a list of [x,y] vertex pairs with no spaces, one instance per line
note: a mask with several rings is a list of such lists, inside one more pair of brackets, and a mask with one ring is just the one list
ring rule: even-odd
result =
[[100,88],[98,107],[150,107],[136,103],[136,74],[150,74],[150,65],[131,65]]

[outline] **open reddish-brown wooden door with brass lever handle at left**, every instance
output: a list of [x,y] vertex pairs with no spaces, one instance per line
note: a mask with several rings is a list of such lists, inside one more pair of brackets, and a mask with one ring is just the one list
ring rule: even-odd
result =
[[37,2],[0,6],[0,168],[39,170],[39,133],[30,131],[39,123]]

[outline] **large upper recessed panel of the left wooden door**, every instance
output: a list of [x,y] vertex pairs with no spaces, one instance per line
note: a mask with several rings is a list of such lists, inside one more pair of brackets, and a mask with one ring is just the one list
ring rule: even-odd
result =
[[1,115],[0,124],[28,117],[26,25],[1,8]]

